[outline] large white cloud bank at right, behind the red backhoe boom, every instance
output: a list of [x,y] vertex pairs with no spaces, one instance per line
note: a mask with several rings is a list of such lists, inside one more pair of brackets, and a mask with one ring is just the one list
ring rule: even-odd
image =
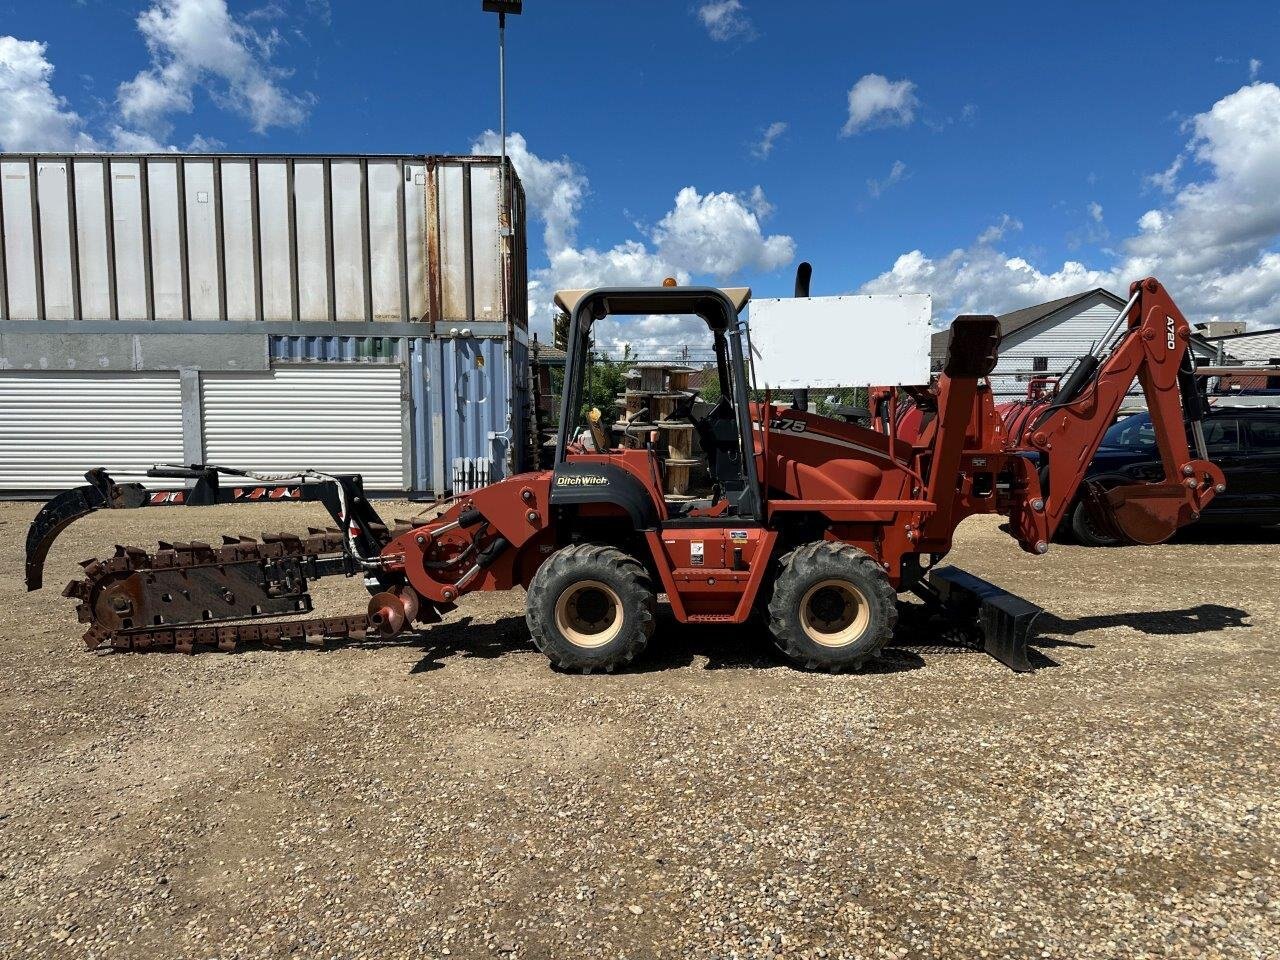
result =
[[1089,287],[1123,294],[1130,280],[1155,275],[1194,320],[1280,323],[1280,87],[1242,87],[1187,128],[1178,169],[1194,164],[1196,174],[1138,219],[1107,266],[1069,260],[1041,270],[1005,253],[996,244],[1010,219],[950,253],[904,253],[863,291],[932,293],[934,315],[947,321],[957,312],[998,314]]

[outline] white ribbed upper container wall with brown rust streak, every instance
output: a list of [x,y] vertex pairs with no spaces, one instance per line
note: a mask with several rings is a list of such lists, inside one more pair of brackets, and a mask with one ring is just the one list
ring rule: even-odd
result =
[[525,326],[507,184],[509,242],[495,157],[0,155],[0,320]]

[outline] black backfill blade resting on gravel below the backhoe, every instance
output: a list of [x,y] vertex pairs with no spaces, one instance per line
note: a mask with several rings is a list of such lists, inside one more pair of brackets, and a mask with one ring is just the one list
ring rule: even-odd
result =
[[1019,673],[1033,669],[1027,643],[1043,608],[956,567],[931,570],[929,585],[947,616],[975,634],[983,650]]

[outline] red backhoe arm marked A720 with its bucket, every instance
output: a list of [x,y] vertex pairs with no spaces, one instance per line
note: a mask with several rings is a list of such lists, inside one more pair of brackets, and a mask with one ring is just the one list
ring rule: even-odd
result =
[[1091,486],[1087,495],[1097,518],[1132,541],[1161,543],[1226,489],[1222,471],[1208,461],[1203,445],[1203,408],[1190,376],[1190,326],[1156,279],[1132,284],[1129,293],[1120,317],[1126,328],[1110,355],[1102,356],[1107,344],[1100,342],[1024,433],[1042,457],[1039,480],[1050,534],[1075,500],[1135,378],[1147,397],[1164,477],[1110,490]]

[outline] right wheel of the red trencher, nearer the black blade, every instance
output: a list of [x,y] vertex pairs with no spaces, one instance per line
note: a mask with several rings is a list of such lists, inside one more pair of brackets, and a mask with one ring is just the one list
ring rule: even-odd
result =
[[[827,589],[823,586],[827,581],[836,581],[837,591],[856,591],[860,609],[847,627],[847,639],[840,639],[842,631],[837,631],[832,643],[819,643],[806,630],[809,614],[801,608],[814,602],[814,591]],[[796,664],[831,673],[858,669],[890,641],[896,625],[897,593],[865,550],[820,540],[797,547],[782,558],[769,599],[769,631],[778,649]]]

